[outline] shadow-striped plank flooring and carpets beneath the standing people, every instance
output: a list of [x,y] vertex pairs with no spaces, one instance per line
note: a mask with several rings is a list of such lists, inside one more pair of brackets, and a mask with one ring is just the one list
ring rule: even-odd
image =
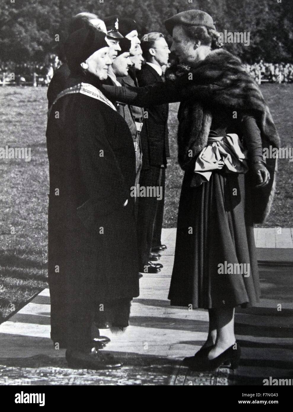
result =
[[[50,298],[45,289],[0,325],[0,383],[15,384],[22,379],[32,385],[262,385],[270,376],[292,379],[293,268],[288,265],[292,249],[286,246],[281,255],[280,249],[275,249],[275,255],[267,254],[273,265],[260,249],[261,302],[258,307],[238,309],[235,318],[242,346],[239,368],[196,373],[183,367],[181,360],[205,341],[208,314],[201,309],[170,307],[167,293],[175,229],[164,229],[163,236],[168,246],[160,260],[164,268],[140,279],[140,297],[133,300],[130,326],[119,333],[101,330],[111,338],[107,351],[123,361],[120,370],[67,367],[65,351],[54,349],[49,339]],[[270,247],[274,251],[276,244]],[[276,264],[276,256],[284,261]]]

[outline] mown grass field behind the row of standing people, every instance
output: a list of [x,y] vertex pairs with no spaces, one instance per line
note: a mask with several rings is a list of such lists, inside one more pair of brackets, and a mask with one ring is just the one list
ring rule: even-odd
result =
[[[292,147],[293,85],[265,84],[283,147]],[[30,147],[31,161],[0,159],[0,322],[47,286],[47,89],[0,88],[0,147]],[[170,166],[164,227],[176,227],[183,172],[177,164],[177,109],[170,105]],[[279,161],[272,213],[263,227],[293,227],[293,162]],[[12,227],[15,228],[15,234]]]

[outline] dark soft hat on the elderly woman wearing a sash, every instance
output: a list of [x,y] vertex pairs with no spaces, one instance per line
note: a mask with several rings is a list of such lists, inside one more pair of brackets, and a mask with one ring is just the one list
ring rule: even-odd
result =
[[64,49],[70,70],[78,68],[80,63],[103,47],[109,47],[105,33],[93,26],[81,28],[71,33],[65,42]]

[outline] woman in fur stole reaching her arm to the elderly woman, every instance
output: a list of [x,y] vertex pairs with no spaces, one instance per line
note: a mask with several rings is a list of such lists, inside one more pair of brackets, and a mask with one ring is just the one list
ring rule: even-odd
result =
[[178,159],[185,174],[169,299],[209,310],[207,341],[184,363],[237,367],[234,308],[259,301],[253,223],[264,220],[273,193],[275,161],[265,164],[263,148],[279,147],[279,136],[258,86],[220,48],[209,14],[182,12],[165,26],[185,63],[169,74],[172,81],[105,93],[144,106],[181,101]]

